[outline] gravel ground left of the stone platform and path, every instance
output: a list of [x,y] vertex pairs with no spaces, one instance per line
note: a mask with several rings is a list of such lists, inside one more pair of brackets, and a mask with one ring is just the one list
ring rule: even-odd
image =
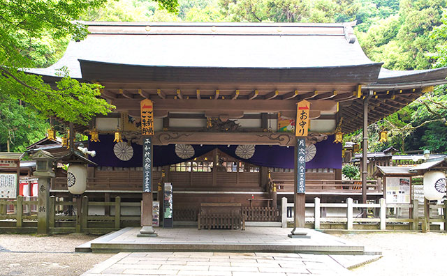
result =
[[75,252],[96,236],[0,234],[0,275],[81,275],[114,254]]

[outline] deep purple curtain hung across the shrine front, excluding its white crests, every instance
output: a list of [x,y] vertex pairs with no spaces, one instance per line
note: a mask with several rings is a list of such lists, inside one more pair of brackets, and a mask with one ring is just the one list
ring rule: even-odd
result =
[[[115,143],[113,135],[99,135],[100,142],[89,142],[89,150],[96,151],[94,158],[89,157],[99,166],[106,167],[141,167],[142,147],[131,144],[133,156],[128,161],[117,158],[113,152]],[[316,154],[312,160],[306,163],[307,169],[332,168],[342,169],[342,144],[334,144],[334,136],[329,136],[325,141],[316,143]],[[255,146],[254,155],[249,159],[242,159],[235,154],[237,146],[226,145],[191,145],[194,148],[194,155],[189,159],[182,159],[175,153],[175,145],[154,146],[154,166],[166,166],[185,162],[208,153],[214,148],[230,155],[233,158],[256,164],[263,167],[277,167],[293,169],[293,147],[286,146]]]

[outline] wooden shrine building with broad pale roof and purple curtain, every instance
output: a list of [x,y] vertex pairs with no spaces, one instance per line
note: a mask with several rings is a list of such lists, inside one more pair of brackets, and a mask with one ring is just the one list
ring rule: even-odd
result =
[[[310,103],[306,200],[383,197],[365,172],[360,186],[342,181],[335,132],[379,121],[446,83],[446,68],[390,71],[370,61],[353,23],[85,24],[85,40],[71,42],[53,66],[30,72],[52,83],[66,66],[71,77],[103,85],[101,97],[117,107],[88,128],[75,125],[99,133],[88,144],[98,166],[89,167],[87,192],[96,195],[142,198],[140,102],[153,102],[151,199],[161,199],[159,183],[172,183],[177,220],[196,220],[200,204],[276,208],[278,198],[293,201],[293,129],[302,100]],[[59,176],[52,192],[63,195]]]

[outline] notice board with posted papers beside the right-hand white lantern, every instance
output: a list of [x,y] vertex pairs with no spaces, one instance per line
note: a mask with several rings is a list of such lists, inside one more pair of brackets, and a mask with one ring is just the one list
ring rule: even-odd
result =
[[409,204],[411,202],[410,178],[387,177],[386,178],[386,203]]

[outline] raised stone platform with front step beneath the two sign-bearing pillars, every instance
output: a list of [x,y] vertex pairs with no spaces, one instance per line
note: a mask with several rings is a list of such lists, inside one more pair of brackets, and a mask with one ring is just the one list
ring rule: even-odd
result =
[[[128,227],[76,247],[83,252],[300,252],[320,254],[371,254],[354,245],[312,229],[311,238],[288,238],[290,228],[247,227],[239,230],[156,229],[158,237],[139,238],[140,227]],[[374,252],[373,252],[374,253]],[[380,254],[380,252],[378,253]]]

